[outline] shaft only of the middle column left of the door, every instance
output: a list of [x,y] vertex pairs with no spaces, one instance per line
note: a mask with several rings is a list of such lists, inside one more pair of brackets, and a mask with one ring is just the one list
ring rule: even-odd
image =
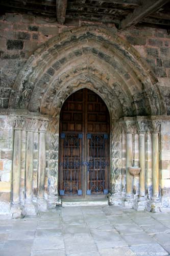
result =
[[33,183],[34,134],[27,132],[27,159],[26,159],[26,201],[32,201]]

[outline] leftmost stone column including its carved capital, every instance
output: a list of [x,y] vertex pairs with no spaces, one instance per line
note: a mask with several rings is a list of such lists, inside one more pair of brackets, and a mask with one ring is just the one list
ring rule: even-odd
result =
[[12,174],[12,204],[20,202],[20,169],[21,169],[21,131],[25,124],[24,118],[18,118],[14,127],[14,149],[13,149],[13,174]]

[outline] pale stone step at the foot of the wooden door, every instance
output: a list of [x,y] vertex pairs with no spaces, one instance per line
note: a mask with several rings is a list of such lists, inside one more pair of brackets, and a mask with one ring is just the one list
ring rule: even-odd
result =
[[61,204],[63,207],[70,206],[104,206],[108,205],[108,199],[62,199]]

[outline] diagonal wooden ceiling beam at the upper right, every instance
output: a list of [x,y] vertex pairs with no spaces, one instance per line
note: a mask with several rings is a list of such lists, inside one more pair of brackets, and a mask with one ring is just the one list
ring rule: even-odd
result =
[[136,7],[132,13],[129,13],[127,17],[120,22],[119,29],[126,29],[141,22],[143,18],[149,16],[168,2],[169,0],[143,0],[141,6]]

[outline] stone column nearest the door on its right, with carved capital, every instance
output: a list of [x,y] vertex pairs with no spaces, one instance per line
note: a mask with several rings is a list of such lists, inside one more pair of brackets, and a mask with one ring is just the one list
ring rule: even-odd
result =
[[128,167],[132,166],[133,162],[133,133],[134,123],[126,121],[126,197],[125,206],[132,207],[132,176],[129,173]]

